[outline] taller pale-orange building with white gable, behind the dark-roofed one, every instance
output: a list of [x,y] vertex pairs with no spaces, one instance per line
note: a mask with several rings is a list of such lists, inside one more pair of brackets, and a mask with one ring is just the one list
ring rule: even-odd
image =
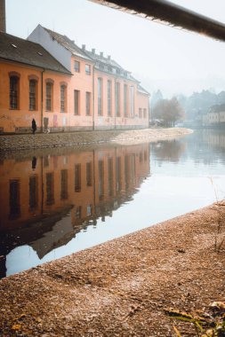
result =
[[70,129],[89,129],[91,121],[92,129],[149,127],[149,92],[110,56],[87,51],[84,44],[79,48],[66,35],[41,25],[28,39],[40,43],[74,75]]

